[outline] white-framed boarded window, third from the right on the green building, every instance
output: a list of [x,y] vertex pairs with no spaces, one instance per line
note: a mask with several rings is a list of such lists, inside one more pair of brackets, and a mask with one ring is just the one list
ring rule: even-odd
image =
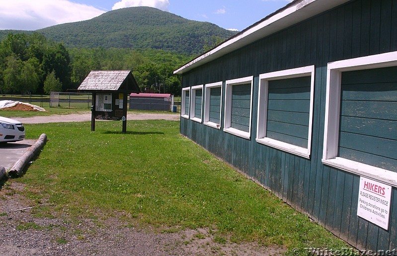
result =
[[251,136],[253,77],[226,81],[224,131],[249,139]]

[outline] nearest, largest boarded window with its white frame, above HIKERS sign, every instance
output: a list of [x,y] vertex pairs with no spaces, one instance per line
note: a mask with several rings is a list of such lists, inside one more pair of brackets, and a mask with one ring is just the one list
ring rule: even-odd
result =
[[397,52],[328,63],[322,163],[397,185]]

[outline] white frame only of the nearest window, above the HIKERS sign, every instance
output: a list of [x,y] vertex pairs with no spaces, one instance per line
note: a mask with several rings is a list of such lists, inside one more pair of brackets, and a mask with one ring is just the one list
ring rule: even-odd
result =
[[397,172],[338,157],[342,72],[397,66],[397,52],[330,62],[327,65],[322,163],[397,186]]

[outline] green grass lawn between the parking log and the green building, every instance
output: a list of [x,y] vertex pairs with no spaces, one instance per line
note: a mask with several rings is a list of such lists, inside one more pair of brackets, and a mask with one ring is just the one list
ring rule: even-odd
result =
[[[345,248],[306,216],[179,134],[179,122],[26,124],[27,138],[46,133],[39,158],[18,181],[36,214],[121,212],[161,229],[198,227],[220,241],[288,248]],[[12,182],[12,181],[7,181]],[[40,206],[49,198],[51,207]],[[165,232],[165,231],[164,231]],[[303,254],[302,254],[303,255]]]

